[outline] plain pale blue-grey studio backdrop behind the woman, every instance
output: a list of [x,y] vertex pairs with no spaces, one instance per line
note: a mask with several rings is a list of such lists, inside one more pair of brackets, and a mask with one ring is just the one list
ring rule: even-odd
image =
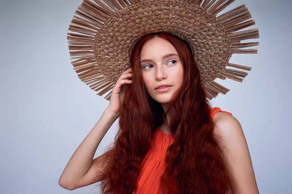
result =
[[[82,0],[9,0],[0,5],[0,194],[98,194],[95,185],[73,191],[58,179],[75,149],[109,102],[79,80],[69,59],[67,33]],[[261,194],[291,194],[290,0],[236,0],[259,28],[258,54],[233,54],[250,66],[242,83],[212,100],[241,123]],[[252,47],[254,48],[254,47]],[[95,157],[113,140],[111,126]]]

